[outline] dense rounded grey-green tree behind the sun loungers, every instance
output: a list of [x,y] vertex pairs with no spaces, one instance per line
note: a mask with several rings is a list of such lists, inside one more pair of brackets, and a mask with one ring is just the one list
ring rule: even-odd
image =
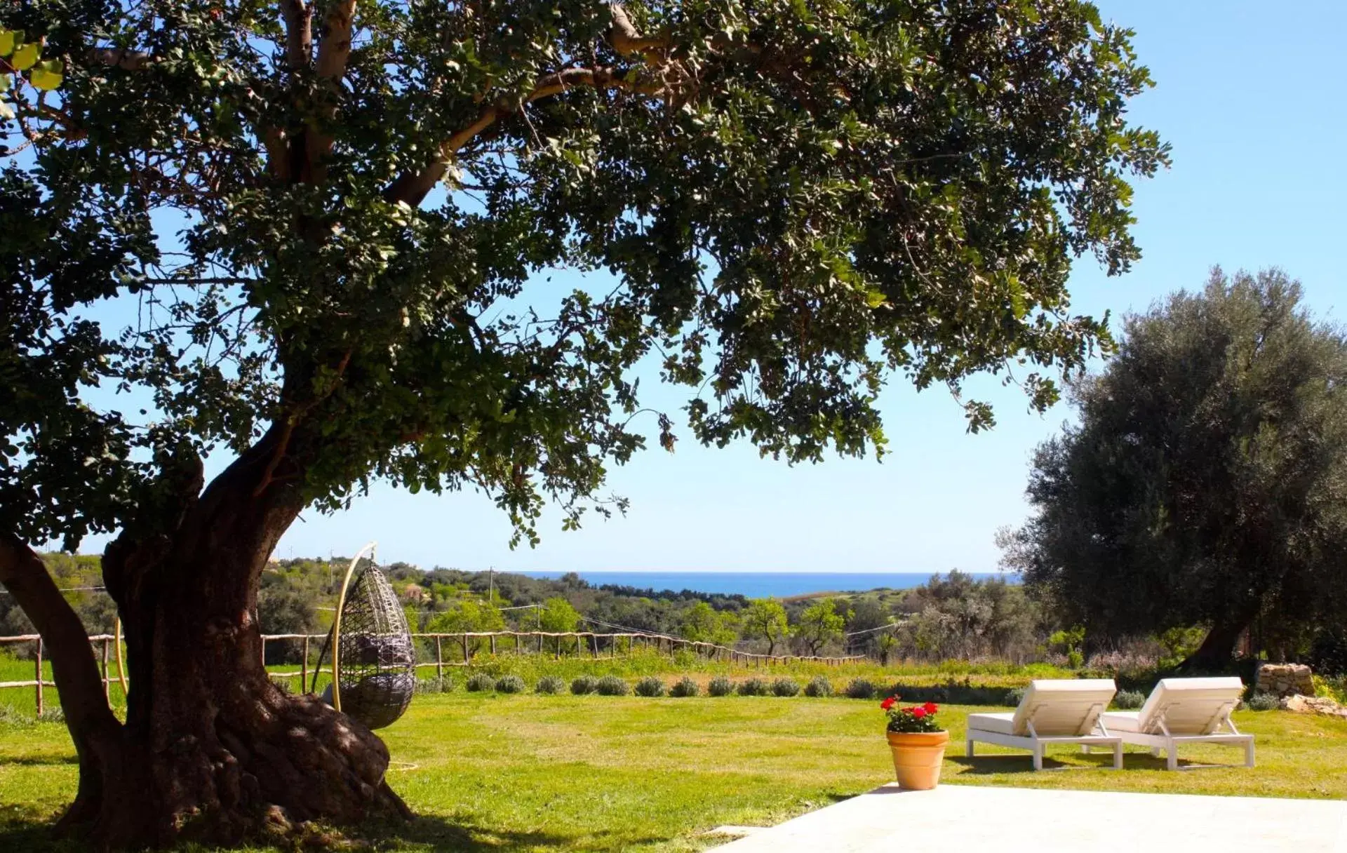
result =
[[1185,662],[1227,662],[1258,621],[1312,631],[1347,598],[1347,340],[1280,271],[1226,276],[1125,322],[1041,445],[1034,516],[1002,535],[1087,636],[1204,624]]

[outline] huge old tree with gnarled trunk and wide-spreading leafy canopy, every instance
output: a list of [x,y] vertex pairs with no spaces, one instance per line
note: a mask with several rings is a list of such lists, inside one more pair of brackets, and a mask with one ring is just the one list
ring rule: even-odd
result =
[[[638,427],[674,443],[678,412],[633,419],[643,360],[695,439],[791,461],[881,450],[892,373],[1028,364],[1045,407],[1107,346],[1071,259],[1126,270],[1126,179],[1167,158],[1125,120],[1130,34],[1075,0],[3,0],[0,26],[63,71],[5,124],[0,581],[79,752],[65,825],[106,845],[401,809],[383,744],[261,667],[259,575],[306,507],[478,488],[528,540],[546,501],[612,509]],[[610,275],[563,292],[563,265]],[[233,462],[203,482],[207,453]],[[32,551],[98,531],[125,722]]]

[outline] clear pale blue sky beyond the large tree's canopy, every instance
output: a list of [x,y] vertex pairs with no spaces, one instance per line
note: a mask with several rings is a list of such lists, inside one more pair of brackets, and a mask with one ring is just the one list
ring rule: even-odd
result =
[[[1076,309],[1117,318],[1172,290],[1200,287],[1212,264],[1280,265],[1303,282],[1316,313],[1347,318],[1338,257],[1347,245],[1347,4],[1100,7],[1106,19],[1137,31],[1137,51],[1157,86],[1134,102],[1133,116],[1173,144],[1175,164],[1138,187],[1142,261],[1117,279],[1092,259],[1078,261]],[[890,387],[882,411],[892,454],[882,464],[830,460],[792,469],[758,460],[748,446],[710,450],[690,441],[672,455],[647,451],[610,478],[612,491],[632,500],[625,517],[563,534],[554,515],[535,550],[506,547],[509,526],[485,496],[379,486],[348,512],[306,512],[276,555],[350,554],[377,539],[383,561],[426,567],[991,570],[994,531],[1028,511],[1030,450],[1071,412],[1059,406],[1028,414],[1021,392],[995,380],[971,383],[968,392],[995,404],[993,431],[964,434],[962,410],[943,391]]]

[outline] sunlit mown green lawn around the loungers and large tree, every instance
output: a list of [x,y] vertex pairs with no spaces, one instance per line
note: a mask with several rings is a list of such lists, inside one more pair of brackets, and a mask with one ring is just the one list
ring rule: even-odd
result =
[[[962,757],[974,710],[986,709],[943,710],[946,783],[1347,798],[1342,721],[1238,713],[1258,737],[1255,769],[1171,773],[1129,751],[1119,772],[1109,756],[1059,748],[1033,773],[1024,752],[979,744],[989,755]],[[365,835],[379,850],[698,850],[717,825],[777,823],[890,779],[881,725],[876,702],[845,698],[419,695],[383,736],[393,787],[420,817]],[[1193,747],[1184,757],[1242,753]],[[0,724],[0,849],[63,849],[43,827],[75,776],[61,725]]]

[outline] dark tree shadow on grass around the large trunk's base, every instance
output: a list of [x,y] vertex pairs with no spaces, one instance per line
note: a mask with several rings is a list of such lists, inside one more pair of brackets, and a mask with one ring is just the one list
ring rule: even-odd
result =
[[[7,819],[8,818],[8,819]],[[0,850],[23,853],[82,853],[89,849],[81,838],[57,838],[48,819],[36,815],[4,815],[0,811]],[[512,831],[461,822],[438,815],[418,815],[411,821],[377,821],[348,830],[323,833],[326,842],[354,850],[454,850],[462,853],[502,853],[505,850],[621,850],[629,846],[669,841],[667,837],[609,838],[612,833],[563,834],[548,831]],[[174,848],[187,853],[203,853],[199,845]],[[253,849],[253,848],[249,848]],[[275,848],[264,848],[275,849]]]

